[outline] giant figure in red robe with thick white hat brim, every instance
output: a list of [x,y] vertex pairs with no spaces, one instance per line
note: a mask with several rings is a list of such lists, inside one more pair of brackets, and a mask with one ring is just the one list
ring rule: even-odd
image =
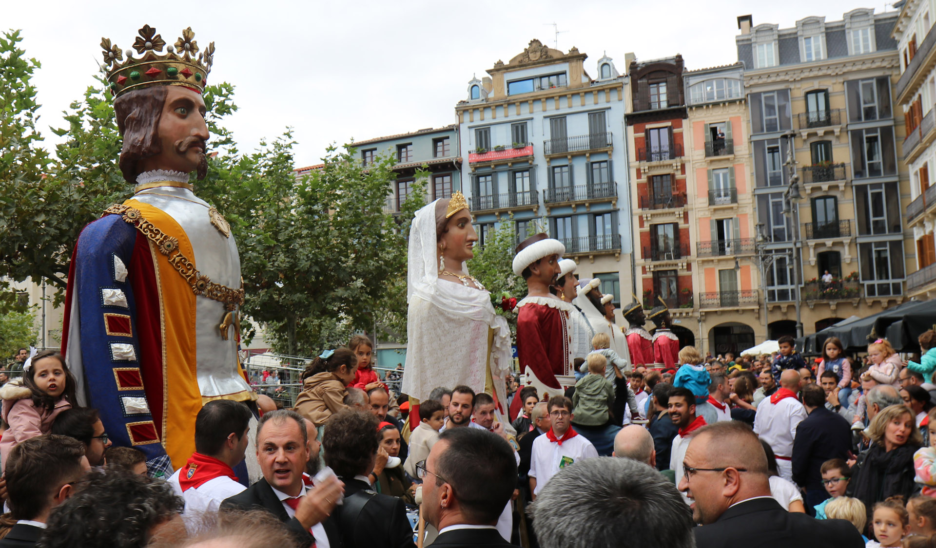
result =
[[572,305],[549,292],[560,272],[565,246],[540,233],[517,246],[514,274],[527,282],[527,296],[517,303],[517,355],[526,383],[539,396],[561,394],[556,376],[572,375]]

